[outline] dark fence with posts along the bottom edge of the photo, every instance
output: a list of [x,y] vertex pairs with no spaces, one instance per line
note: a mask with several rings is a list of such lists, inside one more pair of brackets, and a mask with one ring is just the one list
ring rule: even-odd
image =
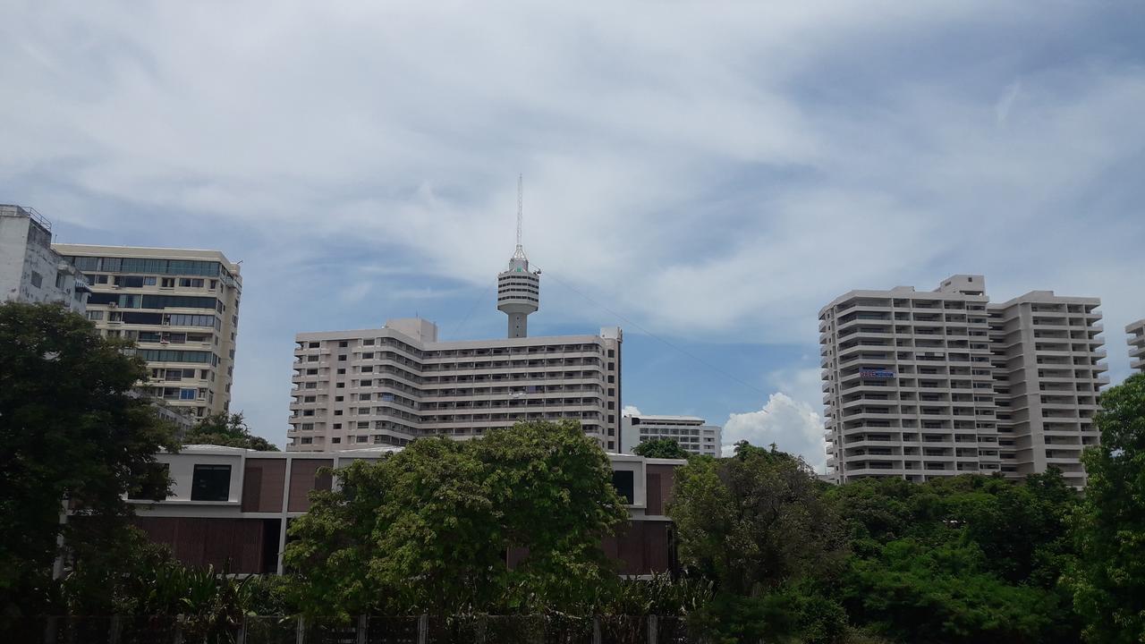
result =
[[[247,616],[204,623],[173,616],[29,620],[17,642],[44,644],[704,644],[682,618],[656,615],[361,616],[349,622]],[[21,637],[22,635],[22,637]]]

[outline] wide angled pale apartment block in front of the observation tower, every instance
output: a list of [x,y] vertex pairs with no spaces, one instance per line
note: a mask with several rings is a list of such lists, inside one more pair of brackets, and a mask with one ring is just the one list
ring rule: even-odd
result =
[[458,440],[518,421],[571,418],[619,446],[618,328],[598,336],[439,341],[420,319],[295,336],[289,451]]

